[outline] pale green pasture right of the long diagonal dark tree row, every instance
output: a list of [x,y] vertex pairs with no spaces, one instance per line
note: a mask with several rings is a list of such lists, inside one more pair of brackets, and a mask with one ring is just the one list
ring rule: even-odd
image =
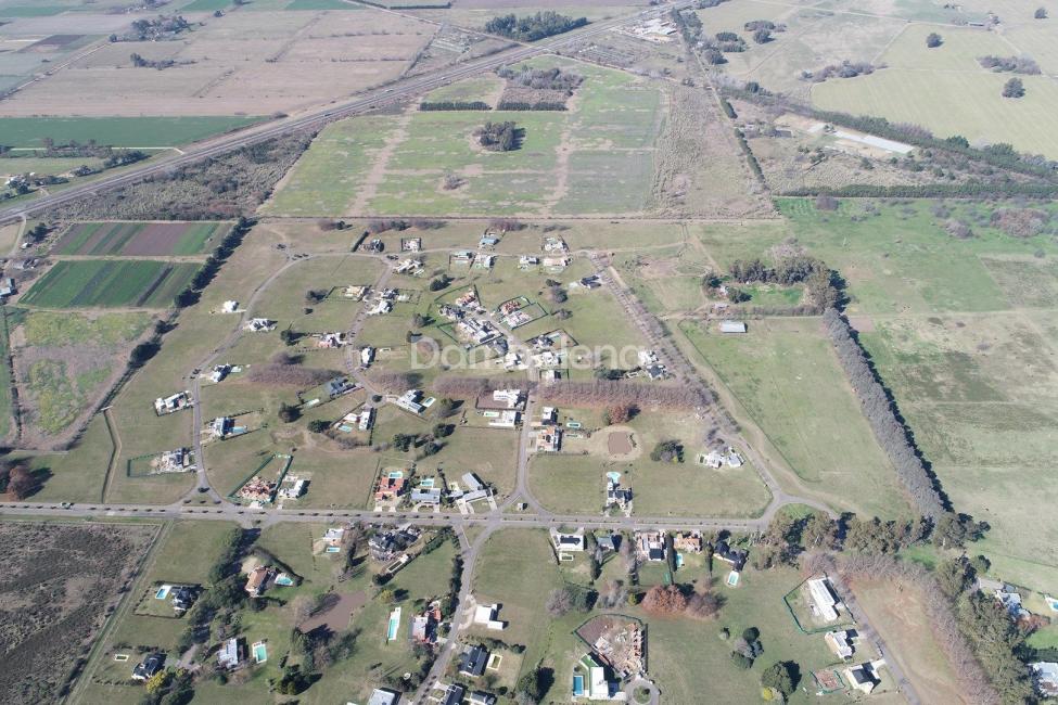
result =
[[[992,525],[979,549],[996,574],[1056,590],[1058,551],[1045,517],[1058,493],[1045,478],[1058,425],[1058,346],[1042,320],[1018,311],[887,318],[862,337],[952,501]],[[1037,517],[1031,529],[1024,512]]]

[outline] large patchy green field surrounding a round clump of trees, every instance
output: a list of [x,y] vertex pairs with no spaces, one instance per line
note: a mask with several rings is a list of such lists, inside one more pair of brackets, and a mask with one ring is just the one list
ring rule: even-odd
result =
[[[534,65],[570,66],[556,57]],[[332,216],[645,210],[663,92],[648,80],[594,66],[570,70],[585,81],[566,112],[412,108],[397,119],[332,125],[266,209]],[[479,148],[473,132],[485,120],[515,121],[525,131],[521,148]],[[348,169],[348,159],[360,166]],[[334,179],[335,172],[346,176]]]

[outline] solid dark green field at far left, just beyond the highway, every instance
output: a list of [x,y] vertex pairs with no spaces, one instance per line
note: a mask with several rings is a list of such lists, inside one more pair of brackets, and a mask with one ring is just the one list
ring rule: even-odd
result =
[[246,127],[260,117],[0,117],[0,134],[8,146],[43,146],[94,140],[111,146],[179,146]]

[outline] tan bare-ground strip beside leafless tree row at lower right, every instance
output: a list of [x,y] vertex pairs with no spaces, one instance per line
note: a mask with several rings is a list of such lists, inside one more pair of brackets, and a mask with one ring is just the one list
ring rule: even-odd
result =
[[851,587],[870,625],[889,645],[887,657],[900,664],[922,702],[969,702],[959,692],[952,665],[933,638],[922,595],[914,587],[888,580],[855,580]]

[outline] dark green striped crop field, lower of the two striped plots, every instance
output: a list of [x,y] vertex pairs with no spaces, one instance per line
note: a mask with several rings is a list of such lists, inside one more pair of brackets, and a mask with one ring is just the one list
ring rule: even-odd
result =
[[168,308],[197,270],[196,264],[145,259],[60,261],[22,303],[42,308]]

